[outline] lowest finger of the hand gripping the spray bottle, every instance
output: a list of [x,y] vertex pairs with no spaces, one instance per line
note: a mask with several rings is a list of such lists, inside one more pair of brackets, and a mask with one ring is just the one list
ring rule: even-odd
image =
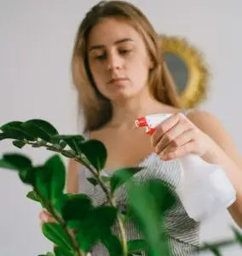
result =
[[169,152],[164,152],[160,155],[161,160],[174,160],[176,158],[180,158],[186,154],[192,153],[195,142],[192,140],[179,148],[171,150]]

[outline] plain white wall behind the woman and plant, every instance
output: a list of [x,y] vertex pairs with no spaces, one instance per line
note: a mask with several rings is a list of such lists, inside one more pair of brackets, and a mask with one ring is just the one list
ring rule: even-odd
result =
[[[75,93],[70,83],[70,58],[75,32],[97,1],[0,0],[0,123],[43,118],[61,132],[76,132]],[[240,0],[132,1],[158,32],[187,36],[205,53],[212,73],[210,99],[202,108],[215,113],[242,153]],[[14,148],[1,142],[1,154]],[[25,149],[36,162],[45,150]],[[39,207],[25,198],[29,188],[14,172],[0,172],[0,254],[33,256],[51,248],[40,232]],[[205,224],[205,240],[231,236],[231,218],[222,212]],[[240,255],[233,247],[223,255]],[[207,254],[206,254],[207,255]],[[211,255],[211,254],[208,254]]]

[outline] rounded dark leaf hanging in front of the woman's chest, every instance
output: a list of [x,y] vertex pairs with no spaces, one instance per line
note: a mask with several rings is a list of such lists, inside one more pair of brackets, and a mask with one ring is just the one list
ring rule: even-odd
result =
[[90,164],[100,172],[106,165],[107,148],[98,140],[92,139],[80,144],[80,150]]

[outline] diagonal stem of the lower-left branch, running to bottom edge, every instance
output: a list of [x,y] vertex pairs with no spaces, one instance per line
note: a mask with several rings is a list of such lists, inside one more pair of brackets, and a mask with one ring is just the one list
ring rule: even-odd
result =
[[85,256],[85,254],[80,250],[78,242],[72,236],[72,234],[69,232],[68,227],[66,226],[66,223],[63,221],[63,219],[60,217],[60,215],[57,212],[55,212],[55,208],[52,206],[52,204],[48,200],[46,200],[43,197],[43,195],[41,195],[41,193],[37,190],[37,188],[34,188],[34,190],[36,191],[37,195],[41,198],[43,203],[46,205],[46,207],[48,207],[49,213],[52,214],[52,216],[55,218],[55,220],[61,225],[62,229],[65,230],[66,235],[69,236],[69,238],[71,239],[72,244],[78,253],[77,255]]

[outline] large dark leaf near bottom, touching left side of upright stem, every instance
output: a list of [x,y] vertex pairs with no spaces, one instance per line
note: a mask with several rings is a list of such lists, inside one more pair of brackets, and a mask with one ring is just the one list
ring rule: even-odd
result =
[[110,229],[117,218],[117,209],[114,207],[96,207],[89,212],[87,218],[80,222],[78,228],[78,243],[87,253],[95,242],[110,236]]

